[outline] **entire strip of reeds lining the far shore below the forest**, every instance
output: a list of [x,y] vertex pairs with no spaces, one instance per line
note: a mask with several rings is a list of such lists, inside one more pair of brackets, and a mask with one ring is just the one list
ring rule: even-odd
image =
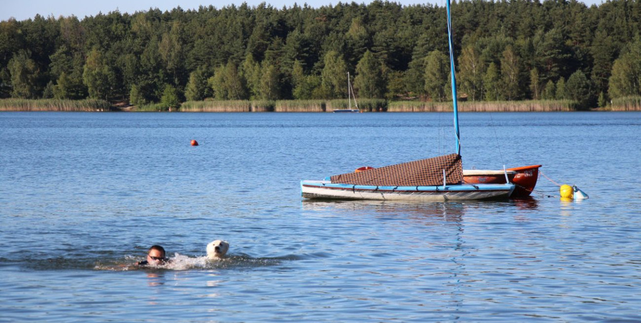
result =
[[[178,112],[332,112],[349,107],[347,99],[335,100],[237,100],[237,101],[187,101]],[[354,105],[351,106],[355,108]],[[387,101],[384,99],[362,99],[358,103],[361,112],[451,112],[451,102]],[[570,112],[581,109],[570,100],[528,100],[528,101],[461,101],[460,112]],[[137,108],[122,104],[110,104],[104,100],[58,100],[58,99],[0,99],[0,111],[163,111],[161,109]],[[605,108],[589,109],[598,111],[641,111],[641,97],[614,99]],[[165,110],[166,111],[166,110]]]

